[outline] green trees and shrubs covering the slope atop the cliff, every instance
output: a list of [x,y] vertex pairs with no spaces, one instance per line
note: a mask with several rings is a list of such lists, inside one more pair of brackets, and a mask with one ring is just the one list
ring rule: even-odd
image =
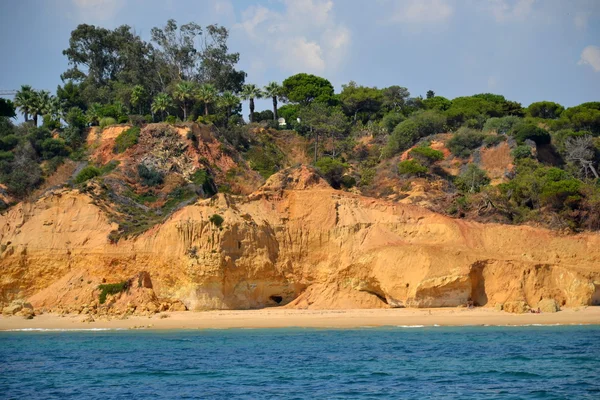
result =
[[[252,175],[249,181],[258,183],[307,160],[335,188],[358,185],[370,195],[390,194],[393,185],[420,176],[453,195],[432,207],[458,216],[600,229],[600,102],[523,107],[493,93],[454,99],[433,90],[411,94],[401,82],[378,88],[350,81],[336,93],[326,78],[307,73],[259,87],[237,69],[240,55],[229,50],[228,38],[224,27],[174,20],[153,28],[148,41],[129,26],[77,26],[65,43],[68,69],[56,93],[23,85],[14,103],[0,99],[2,191],[15,201],[26,198],[65,160],[87,161],[94,149],[85,145],[90,127],[130,123],[116,138],[115,153],[148,137],[164,148],[148,148],[117,173],[109,174],[118,167],[109,162],[89,165],[75,178],[82,183],[103,176],[94,196],[119,224],[111,234],[115,241],[143,232],[198,196],[237,193],[236,179]],[[261,98],[268,99],[263,110],[256,109]],[[25,123],[15,126],[16,113]],[[189,121],[211,130],[219,151],[238,165],[223,174],[214,158],[197,169],[196,159],[182,157],[165,167],[165,159],[192,150],[201,157],[205,137],[194,130],[179,147],[181,138],[169,136],[174,129],[146,124]],[[143,129],[148,136],[140,136]],[[290,137],[294,154],[282,144]],[[451,154],[432,149],[433,142]],[[498,151],[478,151],[503,142]],[[409,159],[400,162],[406,151]],[[481,168],[496,167],[485,163],[513,161],[514,170],[494,175],[504,183],[490,186]],[[462,172],[453,178],[456,170]]]

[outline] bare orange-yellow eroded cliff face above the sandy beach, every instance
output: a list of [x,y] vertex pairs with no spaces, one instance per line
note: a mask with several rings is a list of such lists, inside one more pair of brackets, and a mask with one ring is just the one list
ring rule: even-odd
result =
[[[218,227],[209,218],[218,214]],[[92,199],[60,191],[0,217],[0,302],[83,307],[98,285],[147,272],[149,294],[109,305],[188,309],[481,306],[542,299],[600,302],[600,236],[478,224],[331,189],[309,168],[271,177],[249,196],[186,206],[112,244]],[[151,289],[150,289],[151,287]],[[140,300],[140,298],[143,298]],[[150,299],[150,300],[148,300]]]

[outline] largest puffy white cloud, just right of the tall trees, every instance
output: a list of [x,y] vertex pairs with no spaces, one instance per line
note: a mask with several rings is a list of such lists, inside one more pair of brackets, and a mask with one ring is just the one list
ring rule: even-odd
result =
[[[350,31],[335,20],[331,0],[283,0],[284,10],[250,6],[234,29],[250,39],[255,59],[273,60],[288,73],[323,73],[344,59]],[[257,71],[258,72],[258,71]]]

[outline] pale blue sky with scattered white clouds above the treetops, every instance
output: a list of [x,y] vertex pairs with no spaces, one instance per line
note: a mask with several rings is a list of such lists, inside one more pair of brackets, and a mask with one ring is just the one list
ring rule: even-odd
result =
[[3,0],[0,90],[55,92],[78,24],[150,40],[171,18],[227,27],[246,82],[260,86],[307,72],[336,91],[353,80],[524,106],[600,101],[600,0]]

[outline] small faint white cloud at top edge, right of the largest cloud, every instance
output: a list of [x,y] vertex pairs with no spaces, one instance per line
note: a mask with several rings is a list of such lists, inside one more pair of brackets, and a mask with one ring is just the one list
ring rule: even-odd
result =
[[391,22],[431,24],[448,20],[454,8],[446,0],[407,0],[398,3],[390,17]]

